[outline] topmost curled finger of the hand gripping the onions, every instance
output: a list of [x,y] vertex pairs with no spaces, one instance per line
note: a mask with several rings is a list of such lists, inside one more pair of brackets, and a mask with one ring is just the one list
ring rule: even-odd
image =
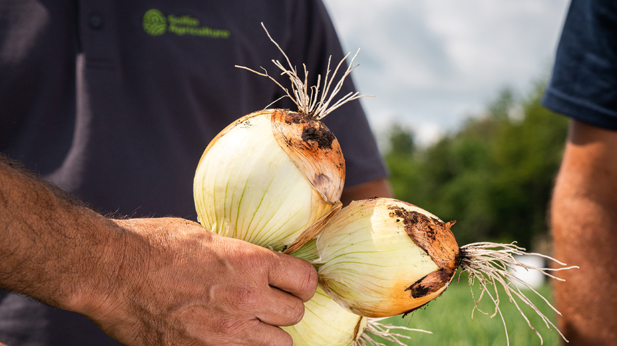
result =
[[317,289],[317,272],[313,266],[297,257],[276,253],[279,260],[273,262],[268,272],[270,286],[289,292],[308,302]]

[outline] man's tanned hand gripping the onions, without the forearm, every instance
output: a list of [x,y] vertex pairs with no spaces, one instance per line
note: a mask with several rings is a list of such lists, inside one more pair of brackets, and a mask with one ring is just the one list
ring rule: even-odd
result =
[[304,315],[317,288],[308,262],[183,219],[117,223],[147,246],[125,249],[123,287],[100,305],[93,296],[86,315],[107,334],[128,345],[292,344],[277,326]]

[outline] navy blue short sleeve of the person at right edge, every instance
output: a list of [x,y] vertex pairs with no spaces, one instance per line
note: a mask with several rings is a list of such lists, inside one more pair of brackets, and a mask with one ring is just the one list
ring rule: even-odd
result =
[[573,0],[542,103],[617,131],[617,2]]

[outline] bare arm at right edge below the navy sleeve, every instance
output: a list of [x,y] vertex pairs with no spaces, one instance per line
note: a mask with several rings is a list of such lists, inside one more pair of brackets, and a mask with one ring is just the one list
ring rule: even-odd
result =
[[615,133],[574,124],[553,194],[555,258],[580,267],[555,283],[561,330],[574,346],[617,343],[616,148]]

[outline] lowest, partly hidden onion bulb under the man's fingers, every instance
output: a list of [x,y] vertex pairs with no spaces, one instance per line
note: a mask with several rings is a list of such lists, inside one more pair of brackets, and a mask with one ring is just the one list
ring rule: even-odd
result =
[[368,323],[368,318],[342,308],[319,286],[304,307],[302,321],[281,327],[291,335],[294,346],[352,346]]

